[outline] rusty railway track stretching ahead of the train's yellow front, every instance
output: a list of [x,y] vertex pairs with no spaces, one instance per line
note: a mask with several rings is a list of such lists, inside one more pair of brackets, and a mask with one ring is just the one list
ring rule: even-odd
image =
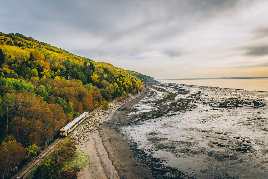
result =
[[41,154],[36,157],[34,160],[29,162],[25,167],[23,167],[17,175],[13,176],[12,179],[14,178],[26,178],[30,171],[34,169],[38,164],[40,164],[43,160],[45,160],[46,157],[50,155],[54,151],[56,147],[60,145],[60,143],[64,140],[65,138],[58,138],[52,145],[50,145],[47,149],[45,149]]

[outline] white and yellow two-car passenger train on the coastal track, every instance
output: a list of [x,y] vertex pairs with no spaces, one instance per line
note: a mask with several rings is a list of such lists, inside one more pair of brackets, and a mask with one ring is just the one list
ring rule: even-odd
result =
[[68,134],[75,129],[75,127],[79,126],[81,122],[83,122],[87,117],[89,117],[89,112],[84,112],[80,116],[76,117],[74,120],[69,122],[66,126],[60,129],[60,137],[66,137]]

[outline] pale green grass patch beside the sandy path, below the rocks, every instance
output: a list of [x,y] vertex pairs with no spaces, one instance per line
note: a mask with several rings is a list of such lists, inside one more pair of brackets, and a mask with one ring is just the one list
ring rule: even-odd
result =
[[77,167],[82,169],[89,164],[89,158],[84,151],[77,151],[71,161],[64,162],[65,167]]

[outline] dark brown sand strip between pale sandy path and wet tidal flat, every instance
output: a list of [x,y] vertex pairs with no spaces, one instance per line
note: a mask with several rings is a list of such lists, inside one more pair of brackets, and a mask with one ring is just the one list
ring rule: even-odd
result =
[[145,92],[141,96],[123,104],[115,112],[111,113],[99,128],[103,145],[121,178],[154,178],[141,161],[132,154],[130,144],[123,138],[122,133],[116,127],[120,126],[120,121],[124,121],[127,117],[128,113],[124,109],[131,108],[146,94],[147,89],[145,88]]

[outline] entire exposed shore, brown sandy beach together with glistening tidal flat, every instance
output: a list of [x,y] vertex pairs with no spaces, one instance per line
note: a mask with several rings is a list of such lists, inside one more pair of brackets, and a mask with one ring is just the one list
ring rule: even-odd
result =
[[79,178],[267,178],[267,92],[146,90],[87,139]]

